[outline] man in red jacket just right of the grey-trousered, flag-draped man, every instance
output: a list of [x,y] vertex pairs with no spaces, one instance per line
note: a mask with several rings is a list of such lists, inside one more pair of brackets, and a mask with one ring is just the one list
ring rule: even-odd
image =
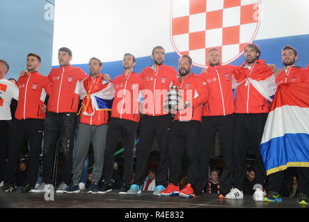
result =
[[98,191],[101,194],[111,191],[114,153],[121,135],[123,136],[125,146],[125,164],[123,168],[123,185],[119,194],[126,194],[130,187],[134,164],[134,141],[140,119],[138,94],[143,85],[141,77],[133,71],[135,65],[135,57],[130,53],[126,53],[122,61],[123,74],[113,79],[116,93],[111,107],[111,119],[107,130],[103,173],[104,183]]

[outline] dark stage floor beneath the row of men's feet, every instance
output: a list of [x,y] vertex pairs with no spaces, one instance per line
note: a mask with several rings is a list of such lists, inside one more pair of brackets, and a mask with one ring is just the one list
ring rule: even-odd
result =
[[1,192],[1,198],[8,200],[11,207],[16,208],[307,208],[299,205],[294,198],[284,198],[281,203],[265,203],[253,200],[252,196],[244,196],[241,200],[218,198],[217,194],[203,194],[196,198],[180,198],[179,196],[153,196],[152,191],[143,191],[138,195],[118,194],[113,190],[107,194],[22,194],[20,189],[13,193]]

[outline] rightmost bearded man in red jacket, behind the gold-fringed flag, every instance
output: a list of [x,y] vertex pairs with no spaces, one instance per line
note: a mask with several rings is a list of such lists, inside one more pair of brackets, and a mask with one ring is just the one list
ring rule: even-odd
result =
[[[301,67],[295,67],[295,62],[298,58],[297,51],[292,46],[284,46],[281,51],[281,57],[283,62],[283,71],[276,76],[277,85],[284,83],[309,83],[309,71],[308,69],[302,69]],[[308,167],[296,167],[298,175],[298,189],[297,202],[301,204],[309,204],[309,168]],[[280,187],[283,182],[283,173],[285,171],[278,171],[271,173],[268,176],[267,181],[267,196],[264,201],[267,202],[282,202]]]

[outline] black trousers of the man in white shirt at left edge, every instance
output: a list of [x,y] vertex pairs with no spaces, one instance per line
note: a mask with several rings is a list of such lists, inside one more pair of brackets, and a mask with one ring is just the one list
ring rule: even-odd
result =
[[12,120],[0,120],[0,181],[3,180],[6,156],[10,147]]

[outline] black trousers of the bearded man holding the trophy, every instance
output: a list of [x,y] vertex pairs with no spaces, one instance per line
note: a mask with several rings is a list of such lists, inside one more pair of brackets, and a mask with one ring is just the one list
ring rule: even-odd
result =
[[174,121],[168,146],[168,162],[170,178],[173,185],[180,181],[182,173],[182,157],[187,156],[188,183],[194,187],[198,178],[198,133],[200,121]]

